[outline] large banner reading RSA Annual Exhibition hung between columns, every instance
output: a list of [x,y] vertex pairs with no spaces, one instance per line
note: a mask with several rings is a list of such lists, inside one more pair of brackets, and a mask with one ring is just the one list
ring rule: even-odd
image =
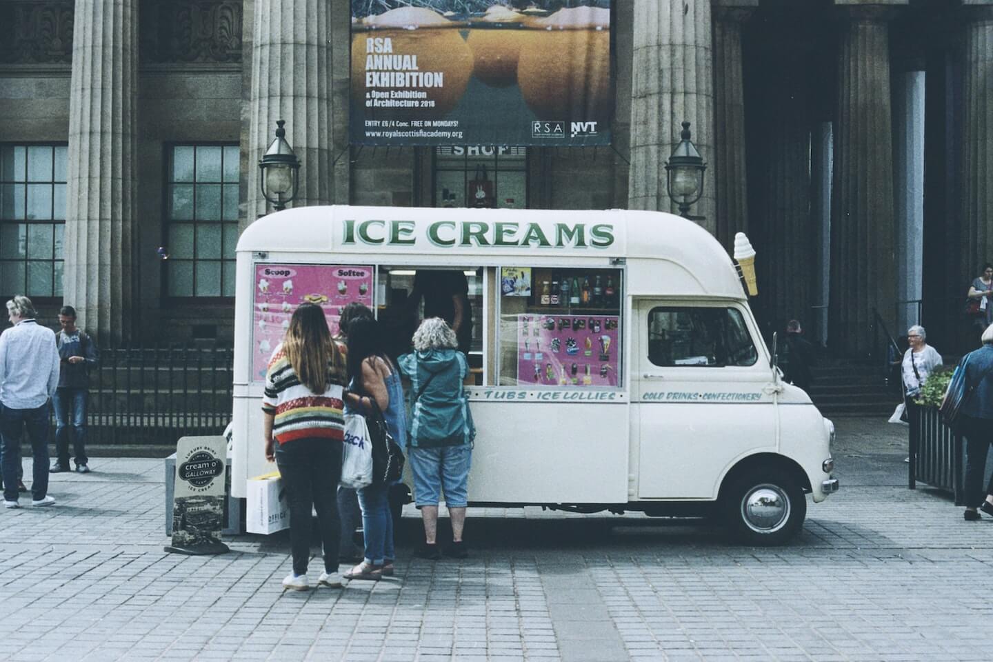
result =
[[352,0],[351,141],[609,145],[612,0]]

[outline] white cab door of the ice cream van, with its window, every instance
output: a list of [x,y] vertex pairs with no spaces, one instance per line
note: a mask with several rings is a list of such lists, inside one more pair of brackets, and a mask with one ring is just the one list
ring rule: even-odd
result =
[[739,458],[775,451],[773,372],[737,302],[636,300],[638,498],[713,499]]

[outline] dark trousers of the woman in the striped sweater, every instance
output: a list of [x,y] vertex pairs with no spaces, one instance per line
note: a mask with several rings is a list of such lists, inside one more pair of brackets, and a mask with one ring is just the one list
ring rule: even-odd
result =
[[306,575],[310,561],[310,538],[317,511],[324,544],[324,570],[338,571],[340,523],[338,480],[342,477],[342,443],[330,439],[295,439],[276,445],[276,465],[290,505],[290,548],[293,574]]

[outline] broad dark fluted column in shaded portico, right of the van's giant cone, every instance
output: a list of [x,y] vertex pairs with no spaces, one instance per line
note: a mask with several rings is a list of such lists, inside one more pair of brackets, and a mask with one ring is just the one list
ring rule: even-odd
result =
[[[906,0],[903,0],[906,3]],[[901,0],[891,0],[890,5]],[[885,349],[878,312],[896,324],[896,232],[890,102],[890,7],[845,5],[840,28],[829,340],[855,356]]]

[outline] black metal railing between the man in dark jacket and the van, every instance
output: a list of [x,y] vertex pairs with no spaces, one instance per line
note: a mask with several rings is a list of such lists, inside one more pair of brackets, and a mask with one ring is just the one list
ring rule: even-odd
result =
[[229,344],[101,347],[86,444],[172,446],[220,434],[231,419],[232,364]]

